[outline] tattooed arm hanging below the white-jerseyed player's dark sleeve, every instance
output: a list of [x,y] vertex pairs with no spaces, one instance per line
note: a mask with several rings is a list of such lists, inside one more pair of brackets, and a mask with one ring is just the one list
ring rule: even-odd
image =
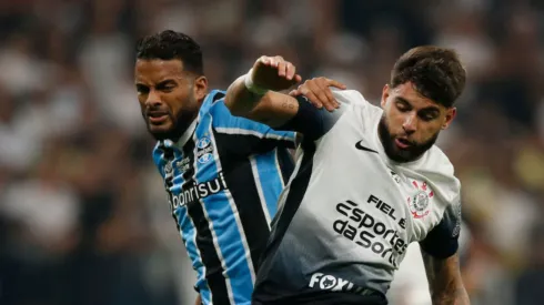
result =
[[459,268],[459,255],[436,258],[421,251],[433,305],[470,305]]

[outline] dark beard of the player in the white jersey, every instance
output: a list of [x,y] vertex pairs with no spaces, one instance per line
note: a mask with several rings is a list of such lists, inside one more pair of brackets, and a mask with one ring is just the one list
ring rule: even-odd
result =
[[439,132],[423,143],[413,143],[406,150],[401,150],[395,144],[396,135],[391,134],[385,116],[382,116],[377,126],[377,133],[382,141],[383,149],[387,156],[395,162],[411,162],[417,160],[429,149],[431,149],[439,139]]

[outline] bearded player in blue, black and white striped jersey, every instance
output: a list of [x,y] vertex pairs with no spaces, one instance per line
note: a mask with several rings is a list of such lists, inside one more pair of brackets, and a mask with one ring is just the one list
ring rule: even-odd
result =
[[158,140],[153,161],[198,274],[197,303],[250,304],[293,171],[288,149],[295,133],[231,115],[224,92],[208,92],[200,47],[183,33],[141,39],[134,73],[143,119]]

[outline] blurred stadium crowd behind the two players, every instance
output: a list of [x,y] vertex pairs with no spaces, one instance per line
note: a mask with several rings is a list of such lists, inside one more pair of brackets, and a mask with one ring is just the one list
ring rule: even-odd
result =
[[[0,304],[192,304],[194,274],[152,165],[134,44],[172,29],[212,88],[261,54],[379,103],[395,59],[455,48],[469,73],[439,145],[463,186],[473,304],[544,299],[544,1],[0,0]],[[425,278],[406,261],[393,305]],[[399,279],[401,281],[401,279]]]

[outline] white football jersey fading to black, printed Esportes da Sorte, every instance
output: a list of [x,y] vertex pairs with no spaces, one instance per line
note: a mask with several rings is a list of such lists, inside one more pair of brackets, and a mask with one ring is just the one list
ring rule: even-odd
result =
[[301,131],[296,169],[262,257],[254,298],[312,293],[383,295],[407,245],[447,257],[457,250],[460,182],[436,146],[391,161],[379,139],[382,109],[357,91],[334,91],[330,113],[305,105],[286,128]]

